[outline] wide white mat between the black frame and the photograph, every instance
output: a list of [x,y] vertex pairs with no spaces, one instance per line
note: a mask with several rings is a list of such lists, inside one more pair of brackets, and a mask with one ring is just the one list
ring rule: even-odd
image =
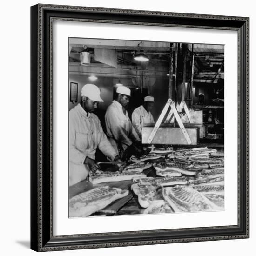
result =
[[[53,24],[53,235],[237,225],[237,31],[72,21]],[[68,218],[68,37],[225,46],[224,211]]]

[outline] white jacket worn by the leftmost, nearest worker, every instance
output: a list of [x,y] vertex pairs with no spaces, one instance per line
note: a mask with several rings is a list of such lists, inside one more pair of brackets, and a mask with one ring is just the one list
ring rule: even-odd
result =
[[89,173],[86,156],[95,159],[96,148],[114,160],[118,152],[104,134],[99,118],[80,104],[69,111],[69,186],[84,180]]

